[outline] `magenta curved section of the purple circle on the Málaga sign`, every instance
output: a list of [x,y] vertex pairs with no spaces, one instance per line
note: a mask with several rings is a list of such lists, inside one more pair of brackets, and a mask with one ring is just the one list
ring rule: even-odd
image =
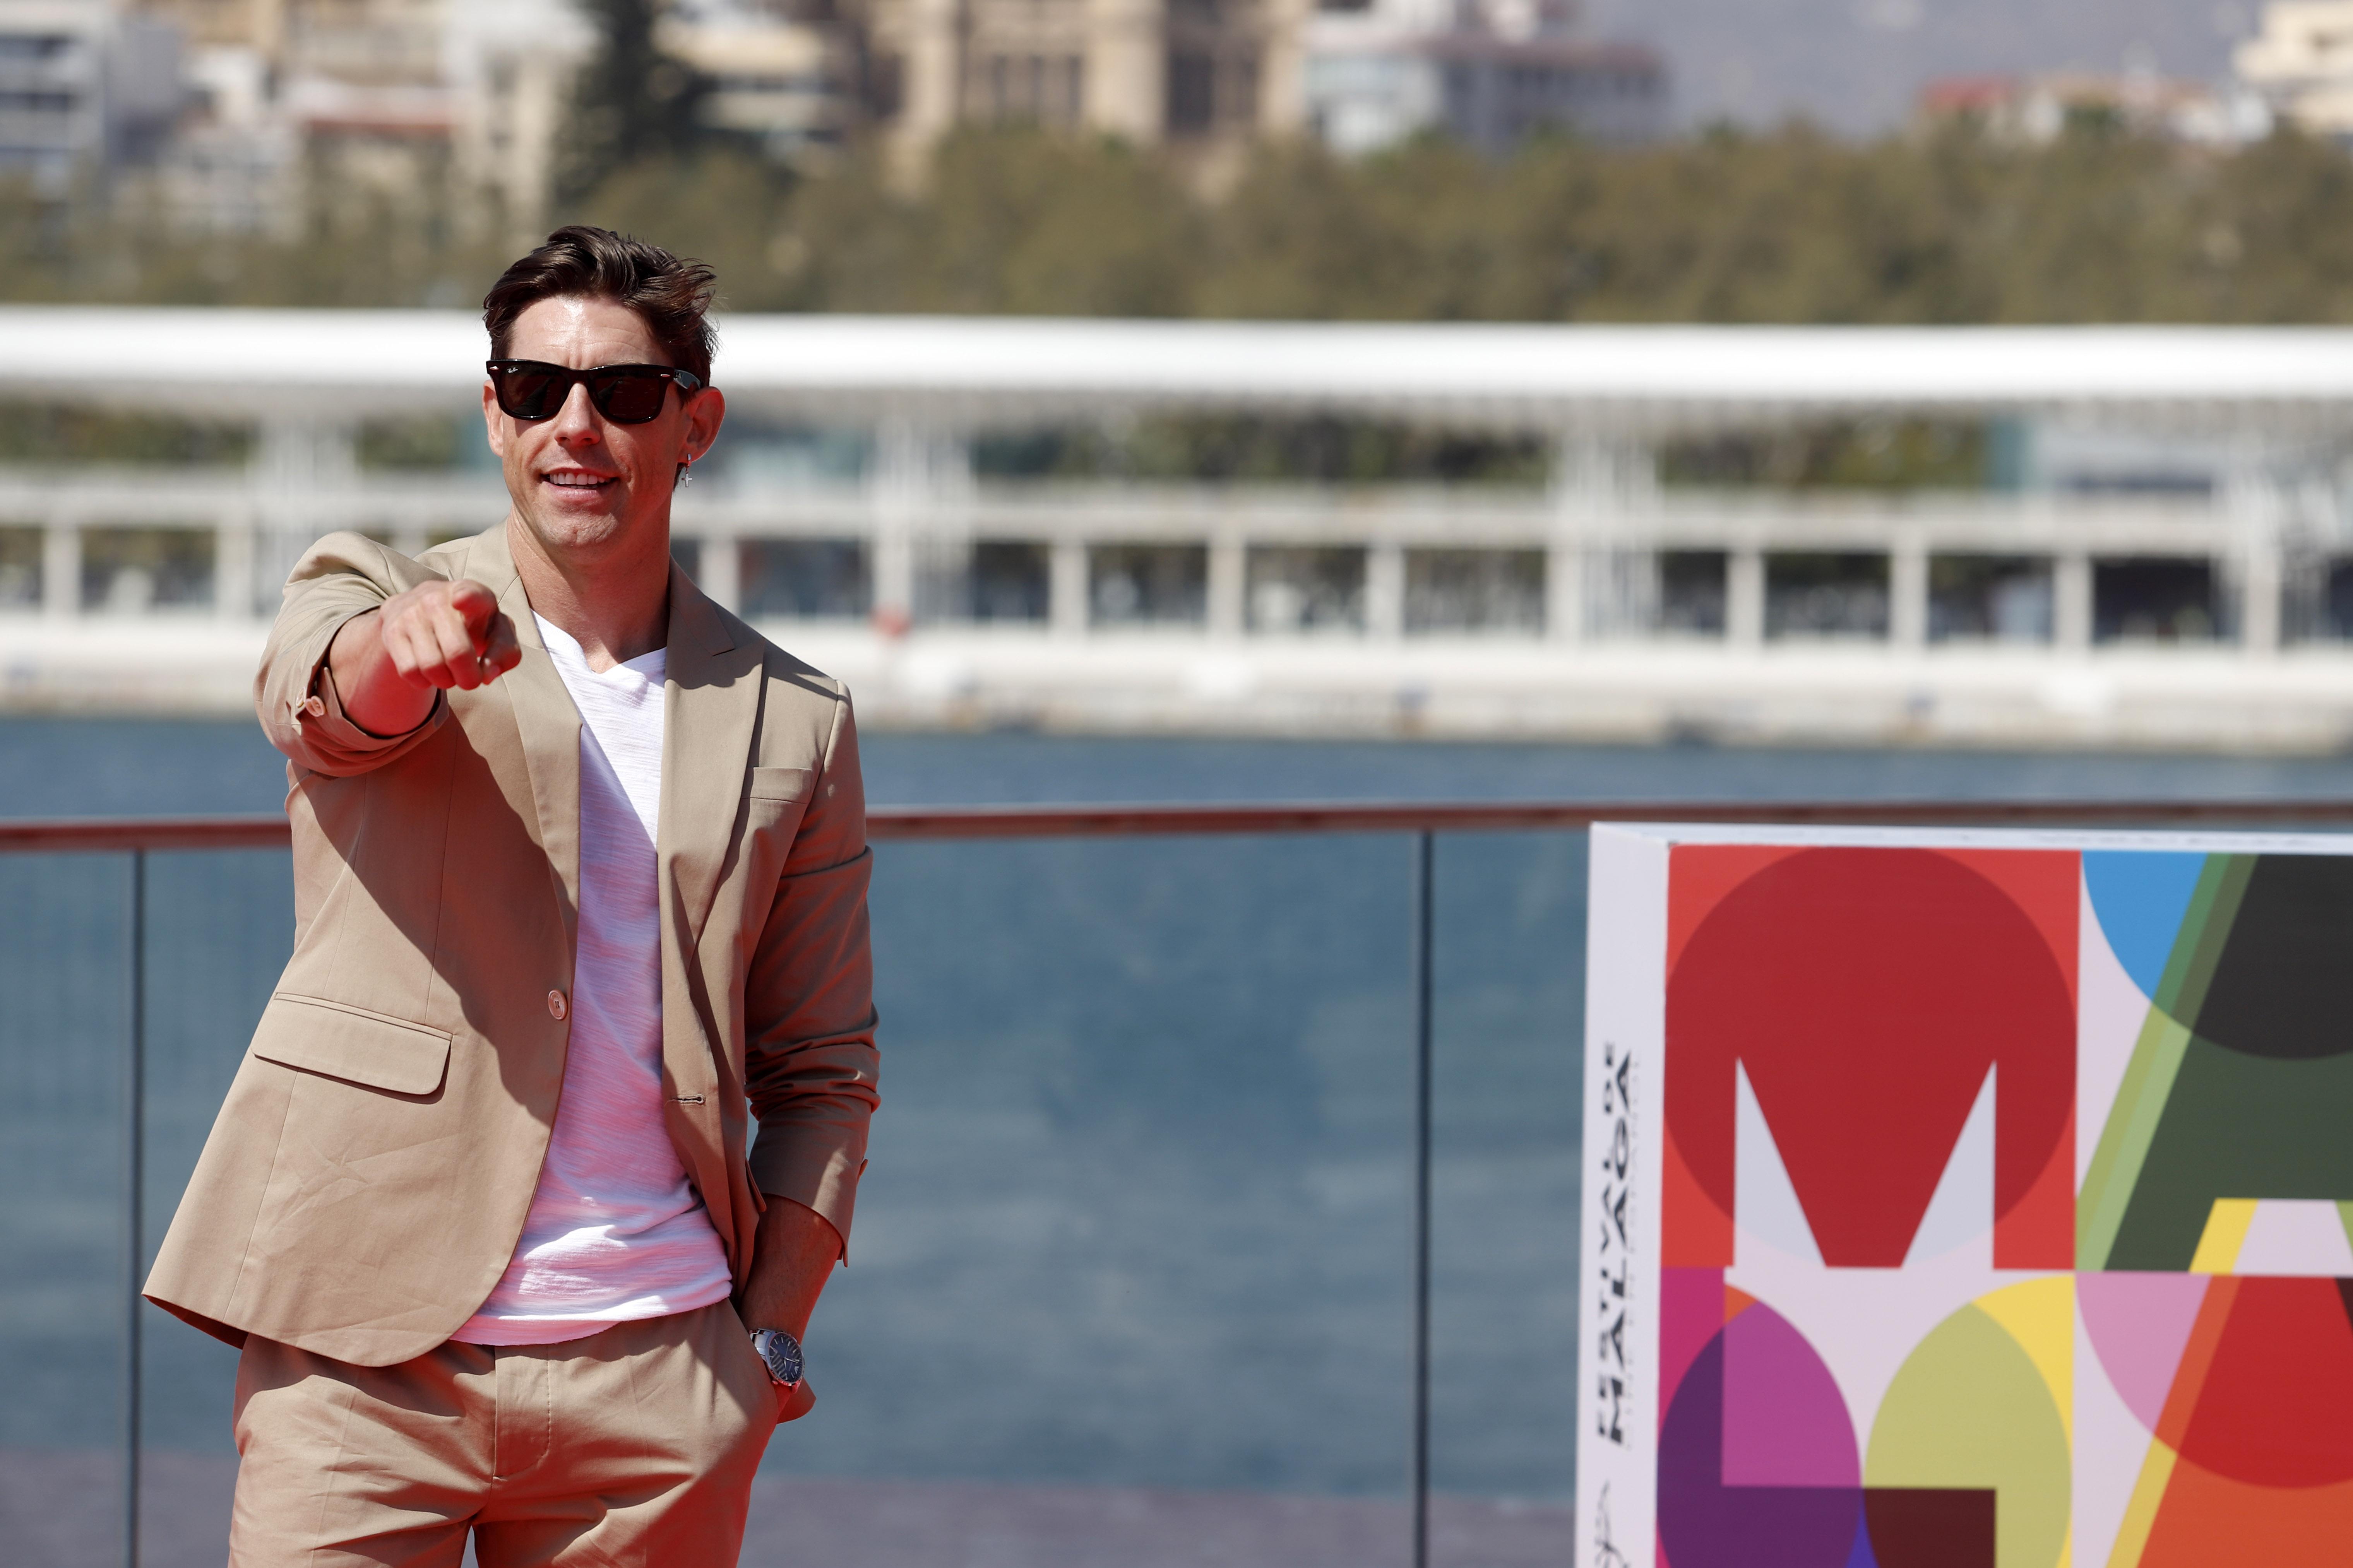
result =
[[1762,1302],[1725,1324],[1725,1486],[1861,1486],[1838,1380]]

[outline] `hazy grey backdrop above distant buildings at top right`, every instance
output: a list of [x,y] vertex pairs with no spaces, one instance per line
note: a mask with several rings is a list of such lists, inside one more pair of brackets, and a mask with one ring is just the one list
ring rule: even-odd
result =
[[2146,68],[2224,80],[2257,0],[1586,0],[1586,31],[1666,54],[1675,120],[1887,132],[1946,75]]

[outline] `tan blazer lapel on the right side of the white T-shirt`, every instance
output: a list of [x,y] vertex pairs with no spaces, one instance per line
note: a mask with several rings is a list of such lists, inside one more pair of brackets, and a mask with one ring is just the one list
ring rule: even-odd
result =
[[736,851],[736,813],[760,729],[758,639],[736,642],[727,616],[671,567],[668,698],[661,736],[661,903],[692,952]]

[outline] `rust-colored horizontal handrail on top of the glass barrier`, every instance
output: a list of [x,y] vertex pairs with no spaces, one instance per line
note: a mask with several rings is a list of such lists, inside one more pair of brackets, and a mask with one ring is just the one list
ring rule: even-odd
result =
[[[1593,823],[1793,823],[1849,827],[2353,827],[2353,799],[1638,799],[1297,802],[1120,806],[871,806],[875,842],[1080,839],[1289,832],[1508,832]],[[0,820],[0,853],[285,849],[282,816]]]

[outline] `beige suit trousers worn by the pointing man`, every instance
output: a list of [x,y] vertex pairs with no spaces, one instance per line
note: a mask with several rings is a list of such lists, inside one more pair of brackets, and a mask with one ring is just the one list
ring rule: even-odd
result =
[[238,1363],[231,1568],[734,1568],[776,1389],[734,1307],[565,1345]]

